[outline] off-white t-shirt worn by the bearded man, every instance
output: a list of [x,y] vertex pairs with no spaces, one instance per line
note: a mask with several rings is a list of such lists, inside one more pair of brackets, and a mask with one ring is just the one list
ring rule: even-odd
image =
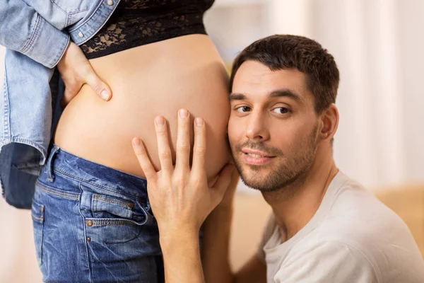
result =
[[267,282],[424,283],[424,260],[404,221],[341,172],[288,241],[270,217],[259,257]]

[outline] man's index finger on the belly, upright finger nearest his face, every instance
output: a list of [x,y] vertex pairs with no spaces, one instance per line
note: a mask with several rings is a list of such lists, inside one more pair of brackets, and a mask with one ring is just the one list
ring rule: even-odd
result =
[[192,172],[206,174],[206,125],[202,118],[194,119],[194,148]]

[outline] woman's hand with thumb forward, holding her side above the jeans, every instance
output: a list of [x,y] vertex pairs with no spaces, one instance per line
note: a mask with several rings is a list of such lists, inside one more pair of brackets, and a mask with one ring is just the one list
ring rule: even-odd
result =
[[80,91],[84,83],[93,88],[95,93],[103,100],[110,100],[112,91],[104,83],[91,67],[80,47],[74,42],[69,42],[64,56],[57,64],[57,69],[65,83],[65,93],[61,100],[61,107],[64,108]]

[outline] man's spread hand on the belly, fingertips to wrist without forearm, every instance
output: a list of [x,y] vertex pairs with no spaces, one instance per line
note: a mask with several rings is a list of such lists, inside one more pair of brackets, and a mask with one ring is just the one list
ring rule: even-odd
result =
[[221,200],[230,185],[235,166],[228,164],[221,171],[213,187],[206,179],[206,126],[204,120],[194,122],[193,163],[190,168],[189,112],[179,110],[177,160],[172,166],[167,122],[156,117],[155,129],[161,170],[156,172],[139,138],[133,139],[134,152],[147,178],[148,197],[158,221],[161,238],[180,233],[198,235],[201,224]]

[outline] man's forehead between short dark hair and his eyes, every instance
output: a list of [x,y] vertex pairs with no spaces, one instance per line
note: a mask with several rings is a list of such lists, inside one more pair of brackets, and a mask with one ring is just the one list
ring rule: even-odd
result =
[[[298,100],[308,96],[305,74],[298,69],[281,69],[272,71],[259,62],[244,62],[235,74],[232,93],[243,94],[246,98],[266,96],[273,98],[292,93]],[[280,95],[279,95],[280,94]],[[283,95],[281,95],[283,94]]]

